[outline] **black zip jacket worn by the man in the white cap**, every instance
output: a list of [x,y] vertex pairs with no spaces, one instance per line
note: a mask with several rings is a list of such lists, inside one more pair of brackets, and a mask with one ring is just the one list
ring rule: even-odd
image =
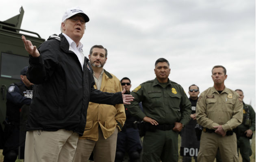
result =
[[29,58],[27,77],[37,84],[30,106],[27,130],[72,130],[80,136],[86,124],[89,101],[121,104],[121,92],[95,90],[93,72],[85,57],[82,66],[65,36],[50,39],[39,46],[40,56]]

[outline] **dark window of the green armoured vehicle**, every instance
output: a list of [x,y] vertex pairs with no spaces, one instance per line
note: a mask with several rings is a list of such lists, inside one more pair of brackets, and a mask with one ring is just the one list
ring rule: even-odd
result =
[[28,66],[28,57],[1,53],[1,77],[20,80],[20,71]]

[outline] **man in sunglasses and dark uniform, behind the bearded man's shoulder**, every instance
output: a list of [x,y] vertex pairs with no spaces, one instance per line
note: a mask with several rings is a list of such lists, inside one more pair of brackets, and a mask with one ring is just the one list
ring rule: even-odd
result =
[[[131,81],[129,78],[124,77],[121,79],[122,89],[125,89],[125,94],[130,94]],[[126,121],[121,132],[117,135],[117,151],[115,154],[115,162],[122,162],[127,152],[130,158],[130,162],[139,162],[140,153],[141,153],[141,141],[139,136],[139,129],[137,128],[136,122],[139,119],[135,116],[132,116],[127,110],[126,105]]]

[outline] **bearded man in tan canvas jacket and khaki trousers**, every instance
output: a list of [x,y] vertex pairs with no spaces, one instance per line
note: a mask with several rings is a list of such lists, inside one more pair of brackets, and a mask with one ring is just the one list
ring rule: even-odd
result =
[[[102,45],[91,47],[89,61],[93,68],[95,89],[102,92],[122,91],[119,79],[103,69],[107,50]],[[84,134],[79,137],[73,162],[114,162],[117,133],[126,120],[124,104],[106,105],[89,102]]]

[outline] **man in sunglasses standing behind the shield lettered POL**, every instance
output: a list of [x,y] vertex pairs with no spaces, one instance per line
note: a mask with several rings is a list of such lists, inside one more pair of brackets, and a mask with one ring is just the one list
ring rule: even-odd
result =
[[197,162],[200,141],[197,141],[197,136],[195,134],[195,126],[197,124],[195,110],[199,93],[199,87],[197,87],[197,85],[193,84],[189,86],[189,100],[191,102],[192,112],[190,114],[191,119],[189,123],[180,132],[180,155],[183,156],[182,162],[191,162],[191,157],[194,157],[195,162]]

